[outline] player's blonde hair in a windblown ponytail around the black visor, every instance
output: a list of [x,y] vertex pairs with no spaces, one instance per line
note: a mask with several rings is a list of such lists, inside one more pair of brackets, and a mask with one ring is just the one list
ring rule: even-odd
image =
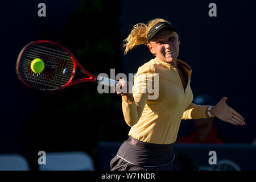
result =
[[[144,23],[137,23],[133,26],[130,34],[127,36],[125,40],[123,40],[123,48],[125,48],[125,55],[130,49],[134,48],[135,46],[144,44],[147,46],[147,34],[150,28],[152,28],[156,23],[159,22],[168,22],[167,20],[156,18],[150,20],[147,24]],[[171,23],[170,23],[171,24]]]

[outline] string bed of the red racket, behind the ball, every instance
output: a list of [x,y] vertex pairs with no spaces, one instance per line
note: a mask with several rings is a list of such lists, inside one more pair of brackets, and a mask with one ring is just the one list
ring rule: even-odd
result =
[[[34,73],[30,68],[32,60],[40,58],[45,68],[42,73]],[[40,43],[27,47],[20,57],[20,76],[33,88],[39,90],[56,90],[71,81],[73,76],[72,57],[61,47]],[[67,69],[64,73],[63,69]]]

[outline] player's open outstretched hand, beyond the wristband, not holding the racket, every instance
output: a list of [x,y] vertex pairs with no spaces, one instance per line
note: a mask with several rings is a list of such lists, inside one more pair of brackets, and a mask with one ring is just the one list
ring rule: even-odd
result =
[[245,125],[245,119],[234,109],[226,104],[227,97],[223,97],[218,104],[212,107],[210,111],[214,117],[222,121],[232,123],[233,125]]

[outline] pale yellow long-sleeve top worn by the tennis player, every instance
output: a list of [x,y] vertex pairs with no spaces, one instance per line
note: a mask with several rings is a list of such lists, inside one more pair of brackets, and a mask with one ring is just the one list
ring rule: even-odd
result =
[[174,143],[181,119],[207,118],[208,106],[192,104],[191,67],[181,60],[177,64],[187,73],[185,89],[179,72],[171,64],[155,58],[139,67],[134,76],[134,101],[128,104],[122,99],[131,137],[148,143]]

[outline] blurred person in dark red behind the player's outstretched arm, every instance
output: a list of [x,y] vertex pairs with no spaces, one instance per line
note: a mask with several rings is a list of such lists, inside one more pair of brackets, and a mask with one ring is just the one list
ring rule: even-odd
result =
[[[214,98],[207,94],[200,94],[193,100],[197,105],[216,105]],[[193,119],[195,130],[183,137],[177,138],[177,143],[226,143],[226,140],[217,132],[214,118]]]

